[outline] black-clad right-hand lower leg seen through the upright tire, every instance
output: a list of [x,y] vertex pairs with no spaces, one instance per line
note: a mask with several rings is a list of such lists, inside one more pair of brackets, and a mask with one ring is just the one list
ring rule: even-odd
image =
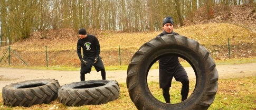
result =
[[181,78],[179,78],[179,82],[182,83],[182,101],[187,99],[187,95],[188,95],[188,91],[189,91],[189,80],[187,78],[187,76],[181,76]]

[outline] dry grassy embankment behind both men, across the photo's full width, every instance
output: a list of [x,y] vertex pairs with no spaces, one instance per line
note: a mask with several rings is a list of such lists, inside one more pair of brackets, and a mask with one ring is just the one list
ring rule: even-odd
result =
[[[92,30],[91,30],[92,31]],[[174,29],[180,35],[198,41],[205,46],[215,60],[229,59],[227,39],[230,39],[231,58],[251,58],[256,56],[256,34],[248,29],[232,24],[204,24]],[[71,29],[49,30],[48,37],[42,39],[40,32],[35,32],[31,38],[11,45],[14,50],[30,67],[46,66],[46,48],[48,50],[49,67],[80,67],[77,56],[77,33]],[[88,30],[89,34],[90,31]],[[106,66],[130,63],[133,54],[145,42],[153,39],[162,31],[155,32],[119,32],[92,31],[99,38],[103,62]],[[0,48],[0,57],[8,49]],[[9,66],[8,52],[0,62],[2,67]],[[14,53],[11,52],[11,63],[14,67],[26,67]]]

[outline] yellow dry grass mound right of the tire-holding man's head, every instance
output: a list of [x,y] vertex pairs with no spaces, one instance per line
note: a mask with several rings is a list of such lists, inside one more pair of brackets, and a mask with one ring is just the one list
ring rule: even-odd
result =
[[250,30],[232,24],[195,25],[180,28],[177,31],[204,46],[226,46],[227,38],[230,38],[230,44],[232,45],[255,43],[256,36]]

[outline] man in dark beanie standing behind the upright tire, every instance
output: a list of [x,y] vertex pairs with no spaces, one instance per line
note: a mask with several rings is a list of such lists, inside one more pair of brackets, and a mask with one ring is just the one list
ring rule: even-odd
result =
[[[157,37],[167,34],[179,35],[173,31],[174,21],[172,17],[166,17],[163,21],[164,31]],[[182,101],[187,99],[189,91],[189,80],[185,69],[179,63],[177,56],[165,56],[159,59],[159,85],[163,90],[163,96],[166,103],[170,103],[169,89],[172,84],[172,79],[182,83]]]

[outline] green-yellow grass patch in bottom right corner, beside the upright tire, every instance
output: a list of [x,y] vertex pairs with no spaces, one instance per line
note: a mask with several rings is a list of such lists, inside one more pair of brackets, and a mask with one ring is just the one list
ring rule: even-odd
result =
[[256,76],[219,80],[210,109],[256,109]]

